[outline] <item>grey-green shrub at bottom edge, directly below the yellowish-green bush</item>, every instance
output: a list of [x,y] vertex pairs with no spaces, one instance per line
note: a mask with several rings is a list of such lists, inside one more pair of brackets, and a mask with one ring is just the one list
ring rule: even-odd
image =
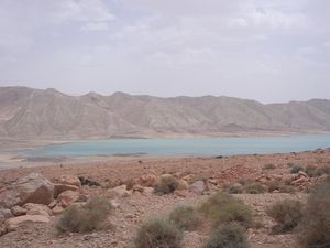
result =
[[245,229],[239,223],[220,225],[212,231],[202,248],[249,248]]

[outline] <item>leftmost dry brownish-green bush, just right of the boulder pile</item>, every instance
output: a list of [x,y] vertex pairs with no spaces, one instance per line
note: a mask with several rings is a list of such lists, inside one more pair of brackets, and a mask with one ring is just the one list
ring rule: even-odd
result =
[[100,196],[90,198],[85,205],[67,207],[56,223],[59,231],[86,233],[99,229],[111,211],[110,202]]

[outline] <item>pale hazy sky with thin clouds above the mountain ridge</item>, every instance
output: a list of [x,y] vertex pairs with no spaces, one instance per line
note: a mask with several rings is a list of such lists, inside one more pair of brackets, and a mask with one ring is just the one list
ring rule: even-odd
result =
[[330,98],[329,0],[0,0],[0,86]]

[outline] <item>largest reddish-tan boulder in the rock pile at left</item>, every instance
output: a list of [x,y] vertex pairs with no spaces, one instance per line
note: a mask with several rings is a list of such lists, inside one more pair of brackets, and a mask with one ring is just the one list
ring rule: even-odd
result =
[[31,173],[13,185],[19,194],[20,204],[40,203],[48,205],[54,198],[54,185],[41,174]]

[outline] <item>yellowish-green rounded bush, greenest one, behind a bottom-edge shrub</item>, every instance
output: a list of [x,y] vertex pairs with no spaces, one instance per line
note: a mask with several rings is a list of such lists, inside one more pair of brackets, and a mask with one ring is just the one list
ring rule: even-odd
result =
[[252,225],[250,207],[227,193],[210,196],[201,204],[199,211],[212,222],[213,226],[230,222],[241,223],[244,227]]

